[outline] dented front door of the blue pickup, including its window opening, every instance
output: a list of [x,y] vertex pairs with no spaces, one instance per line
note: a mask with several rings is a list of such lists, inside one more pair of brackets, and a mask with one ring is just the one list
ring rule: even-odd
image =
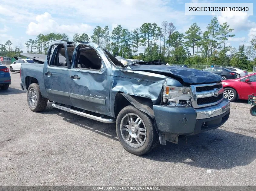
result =
[[105,67],[103,50],[99,46],[78,44],[74,55],[69,72],[72,105],[109,115],[110,67]]

